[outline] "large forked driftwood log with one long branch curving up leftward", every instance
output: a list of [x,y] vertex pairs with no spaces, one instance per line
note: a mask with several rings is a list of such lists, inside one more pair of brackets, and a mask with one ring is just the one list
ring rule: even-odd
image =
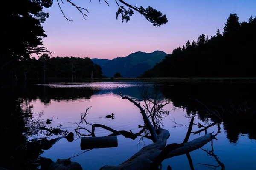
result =
[[[148,119],[148,116],[146,116],[145,110],[140,106],[140,103],[135,102],[134,100],[130,99],[127,96],[124,96],[119,91],[120,96],[122,99],[128,99],[130,102],[134,103],[134,105],[137,106],[137,108],[140,109],[140,113],[143,116],[143,120],[145,123],[145,126],[148,128],[148,130],[151,133],[153,144],[149,144],[148,146],[143,147],[139,152],[135,153],[134,156],[132,156],[127,161],[123,162],[119,166],[104,166],[100,170],[154,170],[158,169],[159,164],[167,158],[171,158],[174,156],[179,156],[183,154],[189,154],[189,152],[192,152],[193,150],[199,149],[208,142],[212,141],[212,139],[215,139],[215,136],[211,133],[208,133],[204,136],[201,136],[197,139],[194,139],[190,142],[188,142],[189,136],[192,131],[193,126],[193,120],[194,117],[192,117],[188,133],[186,134],[186,137],[181,144],[170,144],[166,146],[166,141],[170,136],[170,133],[168,130],[165,129],[157,129],[155,130],[153,125]],[[94,133],[94,132],[93,132]],[[157,135],[157,136],[156,136]],[[189,155],[190,156],[190,155]],[[191,157],[190,157],[191,159]],[[171,167],[168,167],[171,169]]]

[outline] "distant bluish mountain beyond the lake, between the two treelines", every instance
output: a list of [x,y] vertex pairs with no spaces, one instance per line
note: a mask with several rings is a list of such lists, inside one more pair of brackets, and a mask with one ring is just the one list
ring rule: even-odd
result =
[[126,57],[117,57],[112,60],[92,59],[92,61],[102,67],[102,72],[107,77],[113,77],[116,72],[120,72],[123,77],[137,77],[153,68],[166,55],[163,51],[152,53],[138,51]]

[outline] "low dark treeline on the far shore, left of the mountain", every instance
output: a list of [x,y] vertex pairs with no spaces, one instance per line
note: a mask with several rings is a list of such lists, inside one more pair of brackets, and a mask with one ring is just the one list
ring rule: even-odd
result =
[[4,79],[70,79],[76,81],[85,78],[101,78],[102,68],[94,64],[88,57],[49,57],[43,54],[39,59],[35,57],[16,61],[5,71]]

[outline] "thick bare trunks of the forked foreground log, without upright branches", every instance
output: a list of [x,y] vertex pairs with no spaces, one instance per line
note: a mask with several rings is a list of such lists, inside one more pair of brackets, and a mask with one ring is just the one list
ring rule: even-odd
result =
[[[168,130],[158,129],[157,131],[160,132],[157,136],[157,142],[143,147],[139,152],[135,153],[134,156],[119,166],[106,165],[100,170],[150,170],[151,164],[155,161],[155,159],[157,159],[161,151],[165,148],[166,140],[170,136]],[[208,133],[190,142],[186,142],[184,143],[183,147],[170,151],[165,159],[183,155],[193,150],[199,149],[214,138],[215,135]]]

